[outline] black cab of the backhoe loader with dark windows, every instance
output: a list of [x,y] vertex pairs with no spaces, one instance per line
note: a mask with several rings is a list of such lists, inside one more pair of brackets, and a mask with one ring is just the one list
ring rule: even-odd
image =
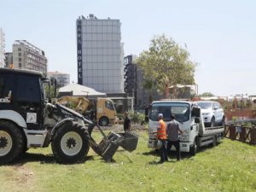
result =
[[43,83],[42,73],[0,68],[1,113],[9,113],[9,116],[18,113],[28,130],[43,129],[46,104]]

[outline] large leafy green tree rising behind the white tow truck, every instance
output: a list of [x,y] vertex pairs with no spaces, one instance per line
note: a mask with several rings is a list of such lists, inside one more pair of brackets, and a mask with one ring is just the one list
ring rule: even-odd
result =
[[189,60],[186,48],[183,49],[164,34],[151,39],[149,49],[143,50],[137,64],[143,70],[144,89],[149,93],[152,89],[164,93],[169,85],[195,84],[197,63]]

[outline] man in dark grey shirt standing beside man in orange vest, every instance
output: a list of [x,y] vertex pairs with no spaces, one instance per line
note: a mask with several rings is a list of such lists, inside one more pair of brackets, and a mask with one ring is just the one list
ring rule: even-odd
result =
[[179,127],[179,123],[175,119],[175,116],[171,114],[171,122],[167,125],[166,133],[168,137],[167,153],[169,153],[172,145],[176,148],[177,160],[180,160],[180,146],[178,132],[183,134],[183,131]]

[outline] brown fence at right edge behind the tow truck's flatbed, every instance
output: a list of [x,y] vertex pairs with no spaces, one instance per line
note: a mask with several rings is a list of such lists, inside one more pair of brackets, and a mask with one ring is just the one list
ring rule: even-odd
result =
[[242,143],[256,145],[256,127],[229,124],[224,126],[224,136]]

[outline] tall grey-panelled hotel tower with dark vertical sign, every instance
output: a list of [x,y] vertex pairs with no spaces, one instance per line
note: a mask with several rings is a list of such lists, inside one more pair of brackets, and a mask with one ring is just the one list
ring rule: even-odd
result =
[[78,83],[105,93],[124,93],[119,20],[95,15],[77,20]]

